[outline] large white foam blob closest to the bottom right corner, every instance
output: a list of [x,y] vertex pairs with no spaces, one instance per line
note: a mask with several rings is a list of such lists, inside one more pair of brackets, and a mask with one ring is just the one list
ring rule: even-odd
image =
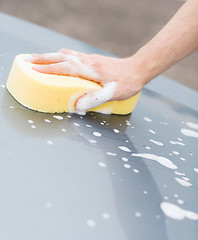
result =
[[198,214],[192,211],[184,210],[179,206],[169,203],[169,202],[162,202],[160,207],[163,213],[172,219],[175,220],[183,220],[184,218],[188,218],[190,220],[198,220]]

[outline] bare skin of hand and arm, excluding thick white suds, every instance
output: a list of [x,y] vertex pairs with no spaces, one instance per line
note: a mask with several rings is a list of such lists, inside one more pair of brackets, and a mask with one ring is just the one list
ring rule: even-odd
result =
[[[57,53],[33,54],[29,61],[35,64],[33,69],[41,73],[78,76],[97,82],[103,88],[108,86],[107,83],[115,82],[111,98],[105,99],[124,100],[137,94],[153,78],[197,48],[198,1],[188,0],[162,30],[133,56],[112,58],[61,49]],[[68,59],[68,55],[74,56],[77,61]],[[90,71],[83,71],[83,66]],[[94,92],[89,94],[94,101]],[[82,109],[80,106],[80,102],[86,101],[87,95],[77,100],[77,110],[90,107],[87,105],[83,107],[86,109]]]

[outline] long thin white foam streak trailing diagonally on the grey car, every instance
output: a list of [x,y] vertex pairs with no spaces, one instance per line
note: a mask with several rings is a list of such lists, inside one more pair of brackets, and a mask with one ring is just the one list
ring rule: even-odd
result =
[[165,157],[160,157],[160,156],[157,156],[154,154],[149,154],[149,153],[132,153],[131,156],[142,157],[142,158],[154,160],[154,161],[157,161],[158,163],[160,163],[161,165],[168,167],[170,169],[177,169],[177,166],[175,164],[173,164],[171,160],[169,160],[168,158],[165,158]]

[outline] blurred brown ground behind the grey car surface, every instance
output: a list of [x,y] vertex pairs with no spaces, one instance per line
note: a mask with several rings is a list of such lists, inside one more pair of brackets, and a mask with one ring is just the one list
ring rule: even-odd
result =
[[[183,3],[182,0],[0,0],[0,11],[124,57],[149,41]],[[198,52],[164,75],[198,90]]]

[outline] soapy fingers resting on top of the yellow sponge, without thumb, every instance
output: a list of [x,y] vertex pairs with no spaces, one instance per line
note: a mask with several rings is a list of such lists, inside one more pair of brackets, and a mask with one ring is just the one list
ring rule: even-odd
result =
[[93,69],[89,57],[84,53],[60,49],[56,53],[32,54],[26,60],[35,64],[32,68],[41,73],[78,76],[100,82],[99,74]]

